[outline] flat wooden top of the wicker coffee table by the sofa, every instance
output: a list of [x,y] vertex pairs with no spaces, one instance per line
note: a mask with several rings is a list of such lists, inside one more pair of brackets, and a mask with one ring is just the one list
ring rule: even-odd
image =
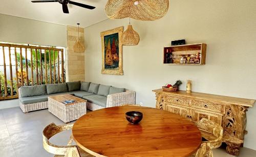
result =
[[77,103],[81,103],[81,102],[87,102],[87,100],[72,96],[70,94],[62,94],[62,95],[56,95],[56,96],[50,96],[49,98],[58,101],[59,103],[62,103],[63,101],[66,100],[75,100],[76,102],[74,103],[70,103],[70,104],[65,104],[65,105],[74,105]]

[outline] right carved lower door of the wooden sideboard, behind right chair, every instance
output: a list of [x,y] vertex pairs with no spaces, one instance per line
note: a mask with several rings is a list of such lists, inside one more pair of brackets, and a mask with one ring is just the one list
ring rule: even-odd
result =
[[220,125],[222,122],[222,115],[208,113],[207,111],[191,109],[191,115],[192,121],[200,121],[202,118],[206,118]]

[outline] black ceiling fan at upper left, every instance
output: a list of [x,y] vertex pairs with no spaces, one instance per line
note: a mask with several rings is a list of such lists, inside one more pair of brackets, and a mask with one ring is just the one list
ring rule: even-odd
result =
[[87,8],[87,9],[94,9],[95,8],[93,6],[73,2],[73,1],[70,1],[70,0],[50,0],[50,1],[31,1],[31,2],[32,3],[58,2],[58,3],[62,4],[63,13],[67,13],[67,14],[69,13],[68,4],[76,5],[76,6]]

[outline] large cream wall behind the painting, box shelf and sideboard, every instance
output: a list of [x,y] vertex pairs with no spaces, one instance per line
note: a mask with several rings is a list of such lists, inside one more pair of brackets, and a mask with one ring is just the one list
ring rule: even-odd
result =
[[[136,102],[155,107],[152,89],[191,79],[193,91],[256,99],[256,1],[170,1],[156,21],[132,20],[138,46],[123,46],[123,76],[101,74],[100,32],[126,26],[129,19],[104,20],[85,29],[86,80],[136,91]],[[206,65],[164,65],[170,41],[207,43]],[[247,113],[245,147],[256,149],[256,106]]]

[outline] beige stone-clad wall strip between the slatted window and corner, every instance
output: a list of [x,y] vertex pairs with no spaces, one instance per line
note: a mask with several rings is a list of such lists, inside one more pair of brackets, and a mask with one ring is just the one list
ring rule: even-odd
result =
[[[79,38],[84,43],[84,29],[79,28]],[[78,28],[67,26],[66,81],[84,81],[84,53],[75,53],[73,47],[78,38]]]

